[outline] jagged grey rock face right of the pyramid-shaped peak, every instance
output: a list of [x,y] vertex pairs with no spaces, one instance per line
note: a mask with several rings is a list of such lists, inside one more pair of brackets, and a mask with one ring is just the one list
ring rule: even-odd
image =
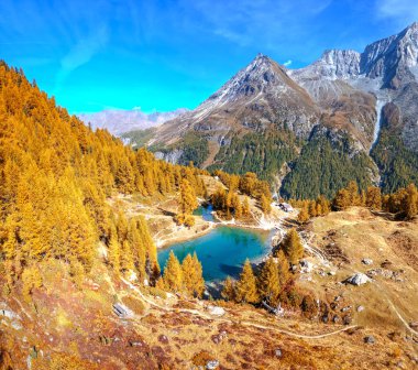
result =
[[[311,65],[289,73],[317,104],[331,115],[326,124],[344,127],[364,149],[371,148],[381,109],[394,101],[405,145],[418,151],[416,76],[418,76],[418,23],[399,34],[367,45],[363,53],[327,51]],[[359,100],[359,94],[366,94]],[[373,94],[377,99],[370,99]],[[341,109],[342,108],[342,109]],[[373,112],[374,110],[374,112]],[[372,140],[373,139],[373,140]]]

